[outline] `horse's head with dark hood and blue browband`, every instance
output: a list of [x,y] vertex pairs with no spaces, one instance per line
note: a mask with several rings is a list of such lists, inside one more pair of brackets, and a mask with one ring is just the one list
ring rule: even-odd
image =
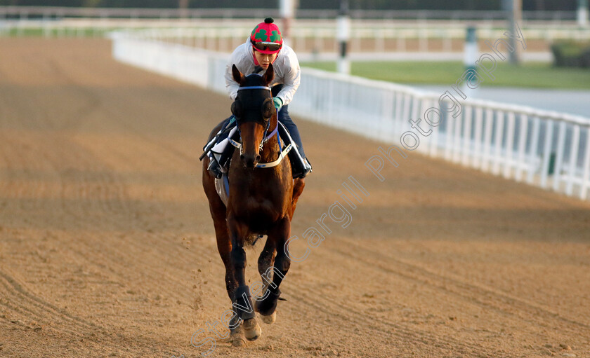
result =
[[244,76],[234,64],[232,75],[240,83],[237,97],[232,103],[232,113],[242,137],[240,158],[247,167],[255,167],[260,160],[265,131],[268,130],[271,118],[276,116],[273,97],[268,87],[270,81],[273,81],[275,71],[270,64],[262,76]]

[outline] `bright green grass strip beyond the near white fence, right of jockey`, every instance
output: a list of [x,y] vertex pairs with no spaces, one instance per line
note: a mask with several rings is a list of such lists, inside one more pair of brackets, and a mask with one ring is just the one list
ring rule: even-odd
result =
[[[302,62],[303,67],[336,71],[335,62]],[[462,62],[352,62],[355,76],[396,83],[451,85],[465,71]],[[590,90],[590,69],[558,68],[542,62],[520,66],[498,63],[492,81],[481,73],[481,86]]]

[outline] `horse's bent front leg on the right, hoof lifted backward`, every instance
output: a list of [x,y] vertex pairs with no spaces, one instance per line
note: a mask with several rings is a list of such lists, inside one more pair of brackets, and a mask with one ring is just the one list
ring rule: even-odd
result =
[[277,308],[277,300],[281,294],[279,286],[289,271],[291,259],[285,252],[285,242],[291,234],[291,221],[289,217],[284,217],[277,225],[269,231],[268,240],[275,242],[277,256],[275,257],[275,266],[273,269],[273,280],[268,283],[260,301],[256,301],[256,310],[263,316],[273,315]]

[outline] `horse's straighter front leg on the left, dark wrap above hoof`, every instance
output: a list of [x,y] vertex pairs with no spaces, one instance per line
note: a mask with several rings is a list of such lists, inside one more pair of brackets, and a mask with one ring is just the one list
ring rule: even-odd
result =
[[261,335],[262,331],[260,326],[258,326],[258,322],[256,322],[256,314],[254,313],[254,305],[252,305],[250,289],[246,285],[246,252],[244,251],[244,239],[248,233],[248,229],[247,226],[238,221],[231,214],[228,217],[228,229],[230,230],[230,237],[232,240],[230,259],[234,278],[237,282],[233,308],[237,313],[237,316],[244,321],[242,326],[244,328],[246,339],[256,340]]

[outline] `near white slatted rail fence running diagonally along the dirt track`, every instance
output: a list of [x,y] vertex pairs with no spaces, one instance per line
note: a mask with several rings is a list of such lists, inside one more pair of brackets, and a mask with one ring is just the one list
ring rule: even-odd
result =
[[[123,33],[113,34],[112,39],[117,60],[225,92],[227,55]],[[589,198],[590,118],[470,99],[451,102],[441,95],[303,69],[301,87],[289,109],[312,121],[428,156]],[[428,109],[433,109],[428,115],[430,127],[424,117]],[[436,121],[433,113],[440,113]],[[420,127],[428,135],[412,128],[411,118],[424,118]]]

